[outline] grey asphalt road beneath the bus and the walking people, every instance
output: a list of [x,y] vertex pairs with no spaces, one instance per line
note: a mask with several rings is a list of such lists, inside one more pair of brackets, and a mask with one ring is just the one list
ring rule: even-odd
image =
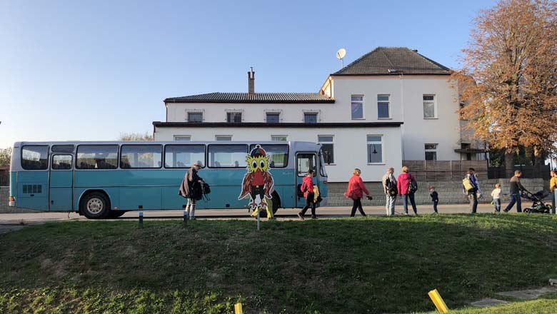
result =
[[[278,220],[297,220],[296,213],[298,209],[279,209],[276,213]],[[317,208],[318,218],[333,218],[333,217],[347,217],[350,216],[351,208],[348,207],[323,207]],[[385,208],[383,206],[367,206],[364,211],[368,215],[385,215]],[[402,213],[402,206],[396,208],[398,214]],[[439,213],[468,213],[469,205],[440,205],[438,206]],[[516,209],[513,208],[516,212]],[[493,206],[489,204],[478,205],[478,213],[492,213]],[[181,219],[183,211],[144,211],[144,218],[146,219]],[[309,211],[308,211],[309,213]],[[309,218],[306,213],[306,218]],[[411,210],[410,213],[412,214]],[[433,213],[432,206],[418,206],[418,214],[431,214]],[[359,213],[356,213],[359,216]],[[118,220],[137,219],[139,211],[129,211],[125,213]],[[254,219],[250,218],[249,214],[244,209],[226,209],[226,210],[196,210],[196,218],[198,219]],[[0,214],[0,226],[14,226],[14,225],[29,225],[34,223],[46,223],[51,221],[84,221],[84,216],[79,216],[77,213],[51,213],[51,212],[37,212],[37,213],[4,213]],[[263,219],[265,220],[265,219]],[[0,228],[1,229],[1,228]],[[1,232],[1,231],[0,231]]]

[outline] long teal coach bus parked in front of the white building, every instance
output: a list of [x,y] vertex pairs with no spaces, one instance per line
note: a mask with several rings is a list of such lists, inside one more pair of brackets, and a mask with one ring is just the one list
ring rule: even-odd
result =
[[[37,211],[73,211],[86,218],[116,218],[126,211],[181,210],[179,186],[185,172],[201,164],[199,176],[211,186],[199,209],[247,208],[239,199],[254,149],[269,158],[271,203],[301,208],[303,176],[327,202],[327,174],[321,144],[247,141],[60,141],[17,142],[11,156],[9,206]],[[261,156],[261,153],[260,155]]]

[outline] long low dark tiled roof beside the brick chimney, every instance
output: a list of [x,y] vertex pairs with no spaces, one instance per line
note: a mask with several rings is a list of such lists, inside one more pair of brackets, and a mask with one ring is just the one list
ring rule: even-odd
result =
[[334,103],[319,93],[202,93],[166,98],[165,103]]

